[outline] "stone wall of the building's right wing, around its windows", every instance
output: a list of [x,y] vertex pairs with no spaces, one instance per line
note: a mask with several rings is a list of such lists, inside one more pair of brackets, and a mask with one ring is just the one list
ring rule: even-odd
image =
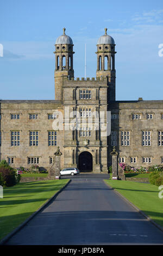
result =
[[[158,146],[158,131],[163,130],[163,101],[117,101],[112,102],[109,109],[119,115],[118,119],[111,121],[111,130],[117,131],[119,157],[124,157],[127,164],[135,167],[161,164],[163,149]],[[153,119],[147,119],[148,113],[153,114]],[[141,114],[141,119],[132,119],[132,114]],[[130,132],[129,146],[121,145],[121,131]],[[151,131],[151,145],[142,145],[142,131]],[[111,151],[111,137],[108,144]],[[136,157],[136,163],[131,163],[130,157]],[[151,157],[152,163],[143,163],[142,157]]]

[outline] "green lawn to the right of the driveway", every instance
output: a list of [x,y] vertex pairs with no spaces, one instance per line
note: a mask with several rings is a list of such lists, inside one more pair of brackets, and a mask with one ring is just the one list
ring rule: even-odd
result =
[[163,227],[163,198],[159,198],[160,190],[157,186],[125,180],[105,181]]

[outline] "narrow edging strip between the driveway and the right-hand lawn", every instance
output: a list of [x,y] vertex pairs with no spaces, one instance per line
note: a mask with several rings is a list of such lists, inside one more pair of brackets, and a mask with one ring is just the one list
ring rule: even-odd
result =
[[103,180],[104,183],[106,184],[106,186],[108,186],[109,188],[112,188],[112,190],[114,190],[118,196],[122,197],[123,200],[125,200],[128,204],[130,204],[131,206],[133,206],[133,208],[135,210],[137,210],[141,215],[143,215],[145,218],[147,218],[148,221],[150,221],[153,225],[155,225],[155,227],[157,227],[158,229],[160,229],[161,231],[163,231],[163,227],[161,227],[158,223],[156,223],[155,221],[152,220],[152,218],[150,218],[148,215],[146,215],[142,210],[140,210],[136,205],[134,205],[133,203],[131,203],[126,197],[124,197],[120,192],[118,192],[117,190],[115,190],[115,188],[111,187],[105,180]]

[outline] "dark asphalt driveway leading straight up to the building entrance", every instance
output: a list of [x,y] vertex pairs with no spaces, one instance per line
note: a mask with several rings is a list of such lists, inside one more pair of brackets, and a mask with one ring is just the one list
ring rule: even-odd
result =
[[7,245],[163,245],[163,232],[106,186],[103,179],[108,178],[83,173],[71,177]]

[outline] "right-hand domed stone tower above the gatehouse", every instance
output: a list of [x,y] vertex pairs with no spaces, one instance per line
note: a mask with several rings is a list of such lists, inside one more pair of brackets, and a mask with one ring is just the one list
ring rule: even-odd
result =
[[105,34],[97,41],[97,71],[96,77],[107,77],[108,80],[108,101],[115,101],[115,42],[114,39]]

